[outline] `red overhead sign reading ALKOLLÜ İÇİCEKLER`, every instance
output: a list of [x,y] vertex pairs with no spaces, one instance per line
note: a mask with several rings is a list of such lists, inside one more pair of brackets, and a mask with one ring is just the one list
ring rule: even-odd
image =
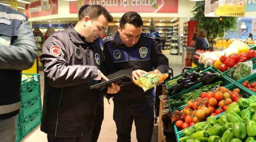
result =
[[[110,13],[136,11],[142,13],[178,13],[178,0],[83,0],[84,4],[100,4]],[[157,9],[153,5],[157,4]],[[78,2],[69,2],[69,13],[77,13]]]

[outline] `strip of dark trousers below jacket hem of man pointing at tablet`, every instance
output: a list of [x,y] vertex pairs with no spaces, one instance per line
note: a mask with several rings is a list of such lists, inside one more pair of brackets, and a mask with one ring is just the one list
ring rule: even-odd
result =
[[48,142],[92,142],[92,130],[80,137],[54,137],[47,135]]

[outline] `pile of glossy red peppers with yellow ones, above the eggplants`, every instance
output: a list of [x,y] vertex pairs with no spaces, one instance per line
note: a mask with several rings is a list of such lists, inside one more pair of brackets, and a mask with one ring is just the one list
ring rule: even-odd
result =
[[219,60],[215,60],[213,62],[213,67],[224,72],[230,68],[235,67],[237,63],[245,62],[247,60],[252,59],[253,57],[255,57],[255,55],[256,55],[255,50],[248,50],[246,53],[241,53],[239,55],[234,54],[234,55],[229,55],[228,57],[226,57],[225,55],[220,56]]

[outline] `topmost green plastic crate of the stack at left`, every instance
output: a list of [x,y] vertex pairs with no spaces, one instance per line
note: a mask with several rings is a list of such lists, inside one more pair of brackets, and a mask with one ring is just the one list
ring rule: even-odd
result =
[[39,74],[29,74],[29,73],[23,73],[23,75],[30,76],[27,79],[21,80],[20,84],[20,92],[25,92],[35,86],[40,85],[40,75]]

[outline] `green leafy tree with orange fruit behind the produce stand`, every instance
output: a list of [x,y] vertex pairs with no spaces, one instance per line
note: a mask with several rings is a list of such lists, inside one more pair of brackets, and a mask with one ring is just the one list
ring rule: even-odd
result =
[[236,30],[236,17],[204,17],[205,1],[198,1],[191,11],[194,19],[198,21],[198,29],[207,31],[207,39],[223,37],[225,31]]

